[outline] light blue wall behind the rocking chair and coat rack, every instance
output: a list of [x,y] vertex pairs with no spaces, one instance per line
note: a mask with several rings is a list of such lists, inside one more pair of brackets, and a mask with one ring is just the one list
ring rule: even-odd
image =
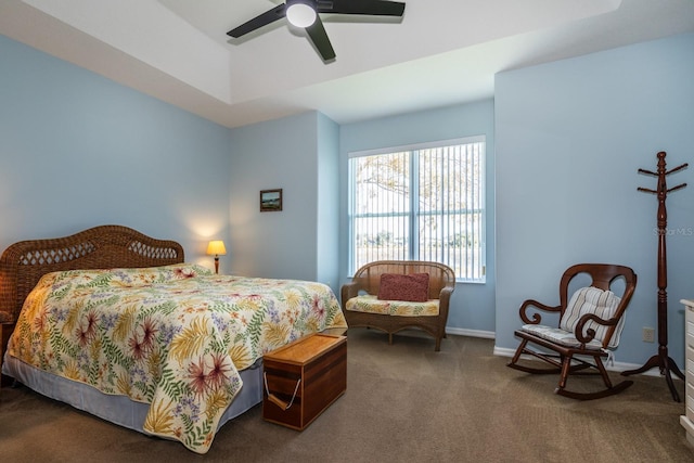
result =
[[[694,36],[634,44],[503,73],[496,79],[497,347],[517,345],[519,304],[558,303],[562,272],[581,261],[630,266],[639,286],[616,360],[642,364],[656,327],[656,153],[694,156]],[[694,167],[694,166],[692,166]],[[667,201],[670,355],[682,366],[682,298],[694,297],[692,167]]]

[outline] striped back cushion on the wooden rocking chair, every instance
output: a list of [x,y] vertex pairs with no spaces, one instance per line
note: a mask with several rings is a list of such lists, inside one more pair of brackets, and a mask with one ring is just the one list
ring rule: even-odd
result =
[[[571,296],[560,320],[560,329],[574,333],[578,320],[586,313],[594,313],[601,319],[608,320],[615,314],[620,300],[612,291],[603,291],[593,286],[581,287]],[[619,336],[624,324],[625,317],[621,317],[612,339],[609,339],[608,347],[616,348],[619,345]],[[595,330],[595,338],[593,340],[603,343],[607,335],[608,326],[591,321],[586,324],[583,330],[589,327]]]

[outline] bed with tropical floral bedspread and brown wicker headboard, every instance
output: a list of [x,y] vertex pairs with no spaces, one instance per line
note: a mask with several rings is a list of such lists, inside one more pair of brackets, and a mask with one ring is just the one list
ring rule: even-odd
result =
[[264,353],[347,327],[326,285],[214,274],[123,226],[13,244],[0,292],[3,374],[196,453],[261,402]]

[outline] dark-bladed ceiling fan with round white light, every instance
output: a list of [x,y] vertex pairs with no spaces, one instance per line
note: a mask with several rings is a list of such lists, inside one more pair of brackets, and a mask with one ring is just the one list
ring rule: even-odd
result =
[[335,51],[319,13],[402,16],[404,3],[384,0],[285,0],[284,3],[231,29],[227,35],[239,38],[286,17],[291,24],[306,30],[323,61],[331,61],[335,59]]

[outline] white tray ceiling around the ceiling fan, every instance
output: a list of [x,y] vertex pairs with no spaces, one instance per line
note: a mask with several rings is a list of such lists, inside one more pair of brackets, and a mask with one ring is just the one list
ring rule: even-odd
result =
[[527,65],[694,31],[694,0],[404,0],[401,21],[323,15],[325,64],[282,0],[2,0],[0,34],[228,127],[317,110],[352,123],[493,95]]

